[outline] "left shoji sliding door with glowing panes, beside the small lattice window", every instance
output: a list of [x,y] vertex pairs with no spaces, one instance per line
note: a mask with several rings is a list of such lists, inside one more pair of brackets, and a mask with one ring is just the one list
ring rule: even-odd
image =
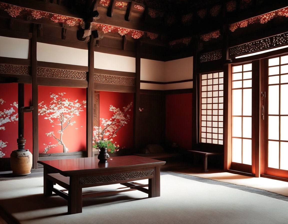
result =
[[232,65],[231,169],[251,172],[252,63]]

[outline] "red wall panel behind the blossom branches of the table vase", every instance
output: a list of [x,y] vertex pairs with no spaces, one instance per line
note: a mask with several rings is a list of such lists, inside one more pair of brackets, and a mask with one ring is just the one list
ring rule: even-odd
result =
[[[110,105],[116,108],[122,109],[127,107],[130,102],[133,102],[133,93],[122,93],[122,92],[106,92],[100,91],[99,93],[99,118],[110,119],[113,115],[112,111],[109,111]],[[117,132],[117,136],[113,138],[113,143],[116,142],[121,150],[122,148],[131,149],[133,146],[133,110],[127,111],[130,115],[130,119],[125,126],[122,126]],[[123,111],[123,109],[122,109]],[[100,120],[101,124],[102,120]]]

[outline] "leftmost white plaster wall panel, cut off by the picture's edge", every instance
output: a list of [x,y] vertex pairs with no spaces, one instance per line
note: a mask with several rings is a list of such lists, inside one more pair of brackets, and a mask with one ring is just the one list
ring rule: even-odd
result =
[[29,40],[0,36],[0,57],[29,59]]

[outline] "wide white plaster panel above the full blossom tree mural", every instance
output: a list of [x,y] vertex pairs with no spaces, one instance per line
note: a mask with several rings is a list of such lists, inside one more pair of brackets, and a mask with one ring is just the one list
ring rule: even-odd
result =
[[88,66],[88,50],[37,42],[37,60]]

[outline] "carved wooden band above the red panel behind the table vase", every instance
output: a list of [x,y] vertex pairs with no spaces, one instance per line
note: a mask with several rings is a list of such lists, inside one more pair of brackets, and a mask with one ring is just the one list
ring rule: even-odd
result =
[[94,82],[135,86],[135,79],[130,77],[94,74]]

